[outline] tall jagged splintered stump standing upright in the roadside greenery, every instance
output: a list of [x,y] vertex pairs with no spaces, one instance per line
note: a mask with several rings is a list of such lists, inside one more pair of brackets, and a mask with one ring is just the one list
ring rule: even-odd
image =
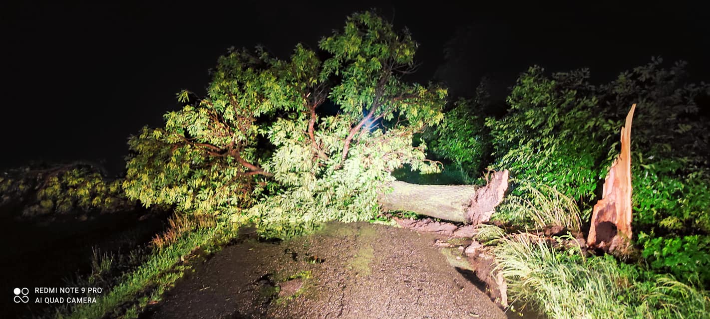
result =
[[631,240],[631,119],[636,104],[621,128],[621,153],[604,181],[601,200],[594,205],[587,245],[626,255]]

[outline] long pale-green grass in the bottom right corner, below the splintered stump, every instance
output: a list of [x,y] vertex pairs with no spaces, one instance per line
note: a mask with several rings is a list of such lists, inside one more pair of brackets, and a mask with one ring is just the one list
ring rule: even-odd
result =
[[509,297],[551,319],[710,318],[705,291],[611,256],[586,258],[523,234],[504,238],[495,253]]

